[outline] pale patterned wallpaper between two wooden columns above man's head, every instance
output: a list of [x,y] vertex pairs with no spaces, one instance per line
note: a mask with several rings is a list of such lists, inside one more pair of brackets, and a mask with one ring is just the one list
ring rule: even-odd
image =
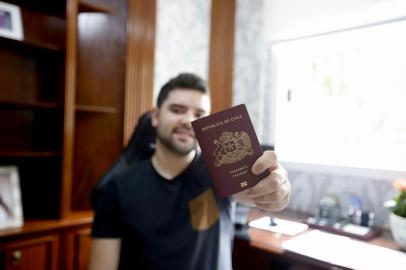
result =
[[207,0],[157,1],[154,97],[180,72],[207,79],[210,9]]

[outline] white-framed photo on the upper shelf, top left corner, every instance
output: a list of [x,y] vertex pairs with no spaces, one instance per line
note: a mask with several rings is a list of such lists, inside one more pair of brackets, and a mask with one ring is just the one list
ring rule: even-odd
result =
[[0,36],[22,40],[21,11],[16,5],[0,1]]

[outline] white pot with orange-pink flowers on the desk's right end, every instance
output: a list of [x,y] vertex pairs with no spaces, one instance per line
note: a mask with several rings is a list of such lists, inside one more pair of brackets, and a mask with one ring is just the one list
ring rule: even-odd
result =
[[391,211],[389,221],[393,238],[401,249],[406,250],[406,178],[396,179],[393,187],[398,193],[385,206]]

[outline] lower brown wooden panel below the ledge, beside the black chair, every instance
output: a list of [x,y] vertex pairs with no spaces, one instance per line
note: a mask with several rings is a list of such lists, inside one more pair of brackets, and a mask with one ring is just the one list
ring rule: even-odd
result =
[[76,118],[72,210],[90,210],[93,187],[121,150],[122,126],[114,113],[77,112]]

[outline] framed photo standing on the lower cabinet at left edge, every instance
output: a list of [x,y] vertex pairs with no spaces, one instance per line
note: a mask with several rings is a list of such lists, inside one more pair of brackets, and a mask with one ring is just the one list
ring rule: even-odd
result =
[[21,190],[15,166],[0,166],[0,230],[23,224]]

